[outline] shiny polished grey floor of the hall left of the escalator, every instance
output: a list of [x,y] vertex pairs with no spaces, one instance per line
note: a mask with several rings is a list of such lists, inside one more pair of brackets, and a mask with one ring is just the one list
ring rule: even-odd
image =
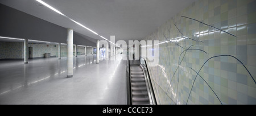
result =
[[0,104],[126,104],[126,61],[74,57],[74,77],[66,78],[67,59],[0,61]]

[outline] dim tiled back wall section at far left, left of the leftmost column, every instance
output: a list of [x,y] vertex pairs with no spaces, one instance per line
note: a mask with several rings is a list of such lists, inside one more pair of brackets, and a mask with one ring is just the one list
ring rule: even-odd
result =
[[0,59],[23,59],[23,43],[0,42]]

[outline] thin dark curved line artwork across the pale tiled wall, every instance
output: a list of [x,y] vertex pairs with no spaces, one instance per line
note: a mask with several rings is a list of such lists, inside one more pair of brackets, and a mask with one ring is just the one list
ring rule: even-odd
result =
[[[231,36],[233,36],[233,37],[236,38],[236,35],[230,34],[229,32],[226,32],[226,31],[224,31],[224,30],[221,30],[221,29],[219,29],[219,28],[217,28],[217,27],[210,26],[209,24],[200,22],[199,20],[192,19],[192,18],[189,18],[189,17],[187,17],[187,16],[181,16],[181,17],[187,18],[187,19],[191,19],[191,20],[195,20],[196,22],[205,24],[205,25],[207,25],[207,26],[209,26],[209,27],[215,28],[215,29],[218,30],[218,31],[225,32],[226,34],[229,34],[229,35],[231,35]],[[193,51],[193,50],[195,50],[195,51],[204,52],[204,53],[206,53],[206,54],[208,54],[208,53],[207,53],[206,51],[204,51],[203,49],[191,48],[191,47],[193,47],[193,46],[195,46],[195,45],[189,45],[189,47],[188,47],[187,49],[186,49],[185,47],[181,46],[181,44],[179,44],[180,40],[193,40],[193,41],[195,41],[195,42],[201,42],[201,43],[204,43],[204,42],[201,41],[201,40],[196,40],[196,39],[189,38],[188,36],[185,36],[185,35],[183,34],[183,32],[180,31],[180,29],[178,28],[178,26],[177,26],[175,23],[174,23],[174,26],[176,27],[177,31],[179,31],[179,33],[181,34],[181,37],[175,38],[175,39],[179,39],[179,40],[176,40],[176,41],[175,41],[175,39],[168,39],[168,38],[166,37],[166,35],[164,35],[164,34],[163,34],[163,36],[164,36],[164,38],[166,39],[166,42],[167,42],[167,43],[168,43],[168,42],[174,43],[175,45],[177,45],[177,46],[179,46],[180,48],[183,48],[183,49],[185,49],[185,50],[180,53],[179,60],[178,60],[178,63],[177,63],[177,68],[176,68],[176,70],[174,71],[174,73],[172,74],[172,77],[170,78],[170,83],[167,85],[167,86],[168,86],[168,87],[167,87],[168,89],[167,89],[167,92],[165,92],[165,93],[168,95],[168,93],[170,92],[171,88],[174,88],[174,87],[172,87],[173,79],[174,79],[174,77],[175,77],[176,72],[178,71],[179,73],[178,73],[178,75],[177,75],[177,87],[176,87],[176,95],[175,95],[175,96],[176,96],[176,99],[177,99],[177,93],[179,92],[179,80],[180,80],[180,78],[179,78],[179,76],[180,76],[179,68],[180,68],[180,66],[181,66],[181,63],[182,63],[183,60],[184,60],[185,55],[187,54],[187,51]],[[171,27],[170,27],[170,28],[171,28]],[[169,28],[168,30],[169,30],[169,33],[171,34],[170,28]],[[183,38],[183,39],[180,39],[180,38]],[[167,44],[167,43],[166,43],[166,44]],[[184,56],[183,56],[182,59],[181,59],[181,55],[183,55],[183,53],[184,53]],[[192,52],[192,53],[193,53],[193,52]],[[196,72],[196,70],[193,69],[193,68],[191,68],[191,67],[187,67],[187,68],[191,69],[193,72],[196,73],[196,77],[195,77],[194,80],[192,79],[193,84],[192,84],[192,86],[191,86],[190,92],[188,91],[189,94],[188,94],[187,102],[185,102],[185,100],[184,100],[184,102],[185,102],[186,104],[188,104],[189,97],[191,97],[191,92],[192,92],[192,89],[193,89],[193,87],[194,87],[194,84],[195,84],[195,81],[196,81],[197,76],[200,76],[200,77],[203,79],[203,81],[208,85],[208,87],[210,88],[210,90],[212,90],[212,92],[214,93],[214,95],[217,97],[218,101],[220,101],[221,105],[223,104],[222,101],[221,101],[221,99],[220,99],[220,97],[218,97],[217,94],[216,94],[216,92],[214,92],[214,89],[213,89],[213,88],[208,84],[208,82],[199,74],[200,71],[201,71],[201,69],[205,66],[205,64],[207,64],[209,60],[211,60],[211,59],[213,59],[213,58],[215,58],[215,57],[233,57],[234,59],[236,59],[238,62],[240,62],[240,63],[243,65],[243,68],[246,69],[247,73],[249,73],[251,79],[253,79],[254,83],[256,84],[256,81],[254,80],[254,78],[253,78],[252,74],[250,73],[250,71],[246,68],[246,66],[242,63],[242,61],[241,61],[240,59],[238,59],[237,57],[232,56],[232,55],[217,55],[217,56],[213,56],[213,57],[210,57],[210,59],[208,59],[208,60],[205,61],[205,63],[201,66],[199,72]],[[181,61],[180,61],[180,59],[181,59]],[[230,68],[232,68],[232,67],[230,67]],[[189,88],[188,88],[188,89],[189,89]],[[168,97],[172,98],[170,95],[168,95]],[[173,99],[173,98],[172,98],[172,99]],[[175,98],[174,98],[174,99],[175,99]],[[172,101],[174,101],[174,100],[172,100]]]

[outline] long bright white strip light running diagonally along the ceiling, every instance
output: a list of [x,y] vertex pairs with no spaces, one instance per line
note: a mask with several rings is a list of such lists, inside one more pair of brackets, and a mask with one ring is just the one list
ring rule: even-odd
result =
[[[93,34],[98,35],[98,34],[97,34],[97,32],[95,32],[95,31],[91,30],[90,28],[88,28],[88,27],[84,26],[83,24],[81,24],[81,23],[77,22],[76,20],[73,20],[72,18],[69,18],[67,15],[64,15],[64,14],[63,14],[63,13],[61,13],[59,10],[57,10],[57,9],[55,9],[54,7],[52,7],[52,6],[48,5],[46,2],[43,2],[42,0],[36,0],[36,1],[38,1],[39,3],[42,3],[44,6],[46,6],[46,7],[48,7],[49,9],[51,9],[51,10],[55,11],[56,13],[58,13],[58,14],[60,14],[60,15],[65,16],[66,18],[68,18],[68,19],[69,19],[69,20],[71,20],[72,22],[74,22],[74,23],[78,24],[78,25],[79,25],[79,26],[81,26],[81,27],[84,27],[86,30],[88,30],[88,31],[92,32]],[[98,36],[100,36],[101,38],[103,38],[103,39],[105,39],[105,40],[107,40],[107,41],[108,41],[108,39],[104,38],[103,36],[101,36],[101,35],[98,35]],[[114,43],[113,43],[113,44],[114,44]],[[116,45],[116,44],[115,44],[115,45]],[[117,45],[117,46],[118,46],[118,45]],[[119,47],[119,46],[118,46],[118,47]]]

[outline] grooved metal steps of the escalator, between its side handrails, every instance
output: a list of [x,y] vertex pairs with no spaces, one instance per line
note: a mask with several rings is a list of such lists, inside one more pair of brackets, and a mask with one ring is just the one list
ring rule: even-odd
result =
[[138,64],[130,65],[131,102],[133,105],[150,105],[143,69]]

